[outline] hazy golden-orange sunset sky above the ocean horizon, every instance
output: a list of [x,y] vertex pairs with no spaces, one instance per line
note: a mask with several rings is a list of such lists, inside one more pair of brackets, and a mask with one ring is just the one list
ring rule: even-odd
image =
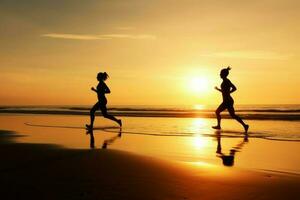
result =
[[[0,105],[300,102],[300,1],[0,0]],[[194,78],[204,80],[199,92]],[[202,82],[200,82],[202,83]]]

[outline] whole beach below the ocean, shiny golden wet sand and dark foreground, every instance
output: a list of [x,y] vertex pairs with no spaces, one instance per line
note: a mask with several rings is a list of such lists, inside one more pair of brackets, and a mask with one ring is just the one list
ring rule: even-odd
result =
[[[83,116],[1,115],[1,199],[299,198],[299,143],[261,137],[287,136],[289,127],[296,136],[295,122],[251,121],[245,142],[234,121],[224,121],[230,131],[218,138],[206,119],[122,119],[118,137],[97,118],[90,149]],[[239,148],[234,166],[216,156],[221,145],[226,155]]]

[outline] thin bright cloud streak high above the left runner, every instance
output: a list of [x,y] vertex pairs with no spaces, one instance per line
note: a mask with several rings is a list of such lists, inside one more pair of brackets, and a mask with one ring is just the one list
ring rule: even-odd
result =
[[84,34],[64,34],[64,33],[48,33],[41,35],[42,37],[69,40],[112,40],[112,39],[133,39],[133,40],[155,40],[155,35],[131,35],[131,34],[102,34],[102,35],[84,35]]

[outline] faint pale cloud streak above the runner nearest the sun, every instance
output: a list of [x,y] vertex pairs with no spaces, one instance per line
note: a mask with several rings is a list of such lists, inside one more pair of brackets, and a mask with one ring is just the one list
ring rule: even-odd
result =
[[263,59],[263,60],[287,60],[292,55],[280,54],[272,51],[226,51],[201,54],[204,57],[215,58],[239,58],[239,59]]

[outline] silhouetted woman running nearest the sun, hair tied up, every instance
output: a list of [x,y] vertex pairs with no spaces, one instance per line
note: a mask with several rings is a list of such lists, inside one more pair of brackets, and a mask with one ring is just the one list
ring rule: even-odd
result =
[[236,91],[236,87],[231,83],[231,81],[227,78],[229,74],[229,70],[231,68],[227,67],[221,70],[220,77],[223,79],[223,82],[221,84],[221,89],[218,87],[215,87],[216,90],[222,92],[223,102],[216,110],[217,120],[218,124],[217,126],[213,126],[214,129],[221,129],[221,115],[220,113],[224,111],[225,109],[228,110],[231,117],[235,120],[237,120],[240,124],[243,125],[245,132],[247,133],[249,125],[245,124],[243,120],[235,114],[234,107],[233,107],[233,98],[230,96],[230,94],[234,91]]

